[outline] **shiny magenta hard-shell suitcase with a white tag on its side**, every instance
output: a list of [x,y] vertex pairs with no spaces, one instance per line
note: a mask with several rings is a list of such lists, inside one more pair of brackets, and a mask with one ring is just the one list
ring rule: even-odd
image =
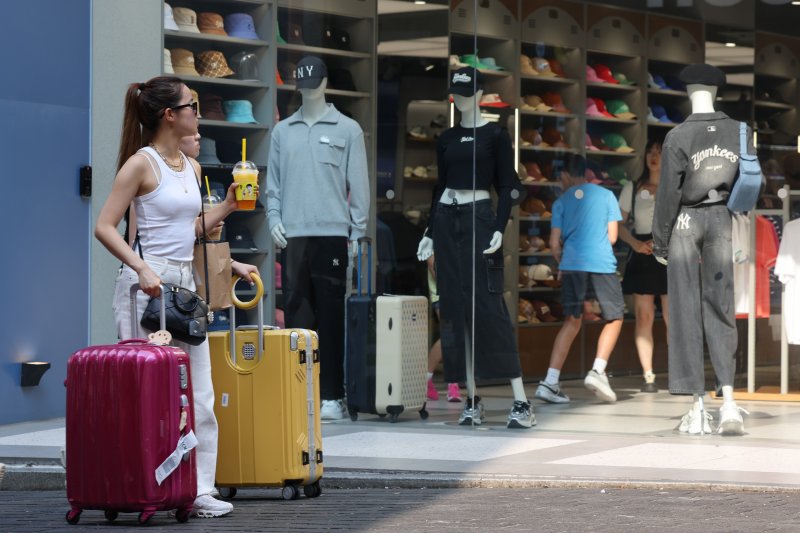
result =
[[138,512],[141,524],[176,509],[186,521],[197,493],[189,355],[143,339],[90,346],[70,356],[65,385],[67,522],[84,509],[110,521]]

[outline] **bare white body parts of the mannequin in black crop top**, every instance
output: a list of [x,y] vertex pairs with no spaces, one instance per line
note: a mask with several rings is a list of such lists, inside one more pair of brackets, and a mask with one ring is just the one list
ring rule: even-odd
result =
[[[458,94],[453,95],[453,102],[456,109],[461,113],[461,127],[463,128],[480,128],[488,124],[488,121],[483,118],[478,112],[478,102],[483,96],[483,90],[478,90],[473,96],[461,96]],[[455,202],[457,204],[469,204],[479,200],[489,200],[491,195],[486,190],[471,190],[471,189],[450,189],[446,188],[442,192],[440,203],[450,204]],[[478,243],[478,246],[481,244]],[[503,245],[503,234],[495,231],[492,235],[492,240],[489,242],[489,247],[483,251],[484,254],[491,254],[500,249]],[[423,237],[419,241],[417,248],[417,259],[426,261],[433,255],[433,239],[430,237]],[[467,396],[473,398],[475,396],[475,375],[472,369],[472,343],[470,341],[469,331],[464,331],[464,347],[465,355],[467,358]],[[522,377],[513,378],[511,380],[511,389],[514,392],[514,400],[527,402],[528,398],[525,394],[525,387],[522,384]]]

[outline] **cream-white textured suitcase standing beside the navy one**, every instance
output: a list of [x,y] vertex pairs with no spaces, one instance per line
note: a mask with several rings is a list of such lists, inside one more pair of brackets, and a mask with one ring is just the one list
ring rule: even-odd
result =
[[375,410],[392,422],[403,411],[425,410],[428,372],[428,299],[378,296],[376,308]]

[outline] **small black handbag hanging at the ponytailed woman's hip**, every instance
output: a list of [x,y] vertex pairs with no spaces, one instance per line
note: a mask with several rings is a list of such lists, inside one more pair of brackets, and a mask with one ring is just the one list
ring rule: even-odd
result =
[[161,296],[150,298],[140,324],[151,331],[161,329],[161,298],[166,309],[167,331],[176,341],[198,346],[206,340],[208,304],[196,292],[172,283],[162,283]]

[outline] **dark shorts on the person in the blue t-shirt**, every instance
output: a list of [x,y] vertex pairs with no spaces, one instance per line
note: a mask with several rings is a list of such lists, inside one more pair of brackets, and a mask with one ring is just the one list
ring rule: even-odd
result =
[[625,313],[622,287],[616,274],[598,274],[576,270],[561,271],[561,305],[564,315],[583,315],[583,302],[588,298],[600,302],[603,319],[618,320]]

